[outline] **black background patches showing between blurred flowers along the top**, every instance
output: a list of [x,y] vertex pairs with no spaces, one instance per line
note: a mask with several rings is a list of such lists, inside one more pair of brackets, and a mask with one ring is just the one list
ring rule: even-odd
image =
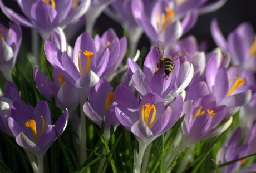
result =
[[[215,0],[209,0],[209,2],[214,2]],[[16,10],[19,13],[22,13],[16,3],[16,1],[3,0],[6,6]],[[228,0],[228,2],[220,8],[218,11],[213,13],[204,14],[199,16],[198,22],[187,34],[194,34],[198,39],[198,42],[206,41],[208,43],[208,51],[212,50],[216,45],[211,38],[210,34],[210,23],[213,18],[218,19],[219,26],[224,36],[227,38],[228,33],[233,31],[240,23],[244,21],[249,21],[252,23],[254,29],[256,28],[256,1],[254,0]],[[7,24],[8,18],[4,16],[2,11],[0,11],[1,23]],[[95,24],[95,29],[97,33],[102,34],[108,28],[114,28],[119,37],[123,36],[123,30],[119,23],[116,23],[105,14],[101,14],[99,19]],[[30,50],[31,48],[31,32],[30,29],[22,27],[23,32],[23,44],[25,47]],[[75,38],[83,32],[81,31],[76,33]],[[71,45],[75,42],[75,39],[72,39]],[[147,37],[143,35],[139,42],[139,48],[142,46],[150,46]]]

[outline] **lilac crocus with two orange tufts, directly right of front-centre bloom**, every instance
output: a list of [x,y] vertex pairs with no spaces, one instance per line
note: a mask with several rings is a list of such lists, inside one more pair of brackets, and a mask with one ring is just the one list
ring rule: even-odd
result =
[[216,126],[225,118],[226,106],[217,106],[214,95],[206,95],[197,100],[189,100],[184,105],[185,118],[182,123],[184,147],[197,141],[208,139],[225,131],[232,123],[232,117],[221,127]]

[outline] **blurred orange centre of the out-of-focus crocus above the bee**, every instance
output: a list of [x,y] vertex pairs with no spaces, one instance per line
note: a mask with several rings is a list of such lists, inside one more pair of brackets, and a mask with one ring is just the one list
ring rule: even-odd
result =
[[[166,14],[159,12],[156,14],[156,26],[158,34],[161,34],[174,20],[174,10],[168,7],[165,7]],[[161,17],[161,22],[160,22]]]

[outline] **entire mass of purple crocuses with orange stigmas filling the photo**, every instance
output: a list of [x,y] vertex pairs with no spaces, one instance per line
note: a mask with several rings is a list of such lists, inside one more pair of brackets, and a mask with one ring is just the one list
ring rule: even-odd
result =
[[[0,71],[6,78],[0,97],[0,130],[23,147],[33,171],[43,172],[43,157],[52,152],[47,150],[58,138],[57,146],[61,147],[71,172],[83,172],[85,168],[94,171],[90,165],[96,161],[99,165],[95,171],[106,170],[110,162],[116,172],[111,159],[115,149],[119,152],[116,157],[127,162],[135,151],[134,172],[146,172],[147,166],[149,170],[168,172],[178,162],[180,152],[188,158],[205,158],[207,155],[200,152],[209,144],[210,150],[218,151],[211,157],[216,158],[214,166],[221,172],[255,171],[255,160],[245,159],[256,152],[253,27],[242,23],[226,40],[213,19],[211,34],[218,48],[210,52],[206,52],[204,45],[198,45],[194,36],[184,37],[200,14],[218,9],[224,0],[17,3],[24,15],[0,0],[2,12],[16,22],[9,23],[9,28],[0,24]],[[120,38],[112,28],[92,36],[102,12],[122,25],[127,38]],[[86,31],[72,46],[67,36],[75,34],[85,18]],[[22,38],[19,24],[36,29],[43,40],[43,65],[35,64],[33,74],[29,71],[33,77],[14,68]],[[68,28],[73,26],[77,28]],[[151,43],[146,55],[137,50],[142,33]],[[32,47],[36,47],[38,39],[33,40]],[[32,58],[40,56],[37,51],[33,53],[36,55]],[[26,79],[29,77],[32,80]],[[54,125],[52,120],[56,120]],[[210,143],[234,127],[236,130],[226,143]],[[126,135],[125,146],[134,146],[129,146],[132,150],[119,147],[120,139],[115,143],[115,134],[120,131]],[[93,138],[97,136],[96,144]],[[66,147],[70,147],[68,151]],[[185,150],[187,147],[189,150]],[[36,165],[30,154],[37,157]],[[92,161],[93,157],[96,159]],[[181,165],[175,168],[178,172],[185,171],[186,165],[199,163],[184,158],[180,161]],[[125,162],[122,161],[123,166],[129,167]]]

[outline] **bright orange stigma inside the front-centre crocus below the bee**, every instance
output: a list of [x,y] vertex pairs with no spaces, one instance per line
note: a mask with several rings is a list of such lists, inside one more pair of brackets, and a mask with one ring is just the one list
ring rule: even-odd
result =
[[[151,120],[149,122],[149,116],[150,116],[151,110],[153,110],[153,114],[152,114]],[[141,108],[141,120],[143,120],[146,123],[146,125],[149,126],[149,128],[154,123],[155,117],[156,117],[156,108],[155,108],[154,104],[150,105],[150,103],[147,103],[145,105],[142,105],[142,108]]]

